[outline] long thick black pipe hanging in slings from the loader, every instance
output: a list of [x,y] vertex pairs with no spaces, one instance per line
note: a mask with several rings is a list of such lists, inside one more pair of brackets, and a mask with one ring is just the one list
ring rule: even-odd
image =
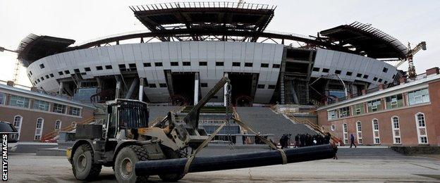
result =
[[[297,163],[309,160],[333,158],[336,146],[327,144],[307,146],[296,149],[283,149],[287,156],[287,163]],[[167,160],[145,160],[135,165],[135,174],[138,176],[182,173],[188,158]],[[231,155],[196,157],[188,172],[208,172],[215,170],[229,170],[237,168],[252,168],[283,163],[281,153],[276,150],[252,153],[237,153]]]

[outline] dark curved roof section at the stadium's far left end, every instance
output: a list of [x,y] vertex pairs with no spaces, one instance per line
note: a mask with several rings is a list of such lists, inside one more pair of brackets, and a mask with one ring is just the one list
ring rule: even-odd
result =
[[18,45],[18,60],[27,67],[39,58],[66,51],[73,43],[73,39],[29,34]]

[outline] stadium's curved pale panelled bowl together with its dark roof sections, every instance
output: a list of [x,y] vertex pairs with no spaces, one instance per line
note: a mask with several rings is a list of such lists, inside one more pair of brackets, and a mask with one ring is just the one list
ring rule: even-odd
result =
[[[322,30],[318,37],[269,32],[275,12],[269,5],[130,8],[148,31],[75,46],[59,37],[23,39],[18,58],[32,84],[86,102],[120,97],[191,105],[227,73],[237,106],[317,104],[395,84],[401,72],[380,58],[408,52],[397,39],[362,23]],[[219,93],[212,102],[223,97]]]

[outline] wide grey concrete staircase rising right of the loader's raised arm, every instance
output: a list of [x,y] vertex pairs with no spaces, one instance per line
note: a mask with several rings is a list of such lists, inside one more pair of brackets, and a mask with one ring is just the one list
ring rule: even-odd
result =
[[303,124],[295,124],[281,114],[274,113],[271,108],[265,107],[237,107],[240,119],[252,127],[255,132],[274,134],[274,141],[278,143],[283,134],[317,134]]

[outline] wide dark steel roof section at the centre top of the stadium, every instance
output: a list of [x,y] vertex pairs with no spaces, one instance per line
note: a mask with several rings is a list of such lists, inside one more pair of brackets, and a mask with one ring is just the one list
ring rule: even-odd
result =
[[275,8],[214,1],[130,6],[135,17],[152,32],[176,28],[262,32],[274,17]]

